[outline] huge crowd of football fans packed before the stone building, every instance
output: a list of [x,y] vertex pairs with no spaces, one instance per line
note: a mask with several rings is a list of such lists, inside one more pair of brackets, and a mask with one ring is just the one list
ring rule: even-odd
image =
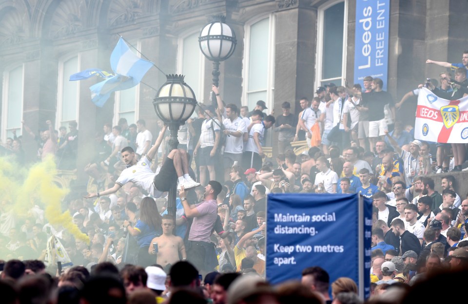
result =
[[[440,86],[435,79],[424,84],[434,94],[447,99],[467,95],[468,52],[461,66],[428,63],[455,70],[454,80],[444,71]],[[260,303],[247,298],[289,303],[294,294],[331,301],[327,297],[329,280],[325,280],[328,274],[319,267],[304,270],[303,285],[273,289],[262,281],[269,193],[360,193],[372,199],[370,280],[376,295],[393,290],[390,285],[395,284],[399,291],[407,291],[406,285],[424,281],[441,269],[466,267],[467,195],[457,194],[454,174],[444,175],[441,193],[428,176],[463,171],[465,144],[414,139],[411,126],[399,121],[396,111],[418,90],[395,103],[382,90],[381,79],[367,76],[363,83],[364,88],[325,84],[317,88],[312,102],[305,97],[299,100],[300,112],[292,114],[286,101],[277,117],[264,112],[267,106],[262,100],[250,112],[245,106],[239,109],[225,104],[220,88],[213,86],[215,105],[197,107],[196,118],[180,127],[178,147],[173,150],[162,121],[157,121],[155,137],[143,119],[131,125],[125,118],[113,127],[105,124],[96,133],[91,161],[81,168],[90,178],[89,193],[72,191],[63,200],[63,211],[70,212],[90,243],[48,223],[39,203],[26,218],[16,218],[7,212],[8,203],[3,203],[0,253],[3,260],[10,260],[4,263],[5,277],[15,281],[23,273],[46,270],[53,274],[21,279],[13,287],[6,282],[3,288],[11,287],[12,297],[18,298],[22,288],[34,284],[46,286],[42,296],[45,292],[51,296],[59,286],[54,293],[58,299],[64,292],[63,299],[78,301],[82,297],[93,303],[97,299],[93,297],[131,299],[133,289],[146,286],[135,297],[151,295],[160,303],[166,295],[172,301],[178,294],[190,295],[194,301],[201,297],[200,301],[239,303],[241,300],[229,300],[228,287],[234,282],[234,288],[241,281],[238,276],[244,274],[250,283],[239,283],[232,296],[249,289],[246,285],[258,288],[242,298],[243,303]],[[38,143],[38,161],[52,155],[59,169],[77,169],[78,124],[70,122],[68,133],[64,127],[55,131],[51,121],[46,125],[47,129],[36,134],[23,122],[26,136]],[[277,145],[274,159],[263,151],[267,136]],[[8,138],[1,152],[21,158],[21,137],[15,133]],[[308,151],[293,149],[297,141],[303,141]],[[176,217],[167,202],[174,185]],[[60,240],[74,267],[63,270],[51,259],[47,247],[53,239]],[[48,255],[45,267],[39,261]],[[93,272],[110,272],[112,278],[93,276]],[[198,274],[205,278],[203,287]],[[177,276],[184,277],[185,283],[174,283]],[[323,284],[317,283],[320,280]],[[357,289],[350,287],[352,281],[342,281],[337,284],[348,289],[334,292],[336,303],[357,303],[352,302],[358,301],[354,296]],[[107,294],[93,289],[97,282],[109,287]],[[171,286],[198,288],[185,288],[179,294]],[[224,293],[223,300],[215,300],[218,293]]]

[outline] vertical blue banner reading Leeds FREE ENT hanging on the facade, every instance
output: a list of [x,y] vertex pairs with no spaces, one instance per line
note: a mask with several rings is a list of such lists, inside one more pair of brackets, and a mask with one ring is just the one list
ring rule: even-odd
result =
[[390,0],[356,0],[354,83],[381,78],[387,90]]

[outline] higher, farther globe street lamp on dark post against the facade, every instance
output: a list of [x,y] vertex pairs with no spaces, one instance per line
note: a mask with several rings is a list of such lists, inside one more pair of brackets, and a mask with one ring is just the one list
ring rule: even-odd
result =
[[[233,29],[225,21],[225,16],[213,16],[213,20],[201,30],[198,37],[201,52],[213,61],[213,84],[216,87],[219,86],[219,63],[233,55],[237,42]],[[213,92],[211,94],[216,107],[216,97]]]

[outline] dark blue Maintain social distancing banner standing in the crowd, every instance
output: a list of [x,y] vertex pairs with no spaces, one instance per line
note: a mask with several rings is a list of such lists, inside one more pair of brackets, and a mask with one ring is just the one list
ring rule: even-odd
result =
[[269,194],[266,276],[273,284],[300,280],[320,266],[330,283],[349,277],[370,295],[372,203],[359,194]]

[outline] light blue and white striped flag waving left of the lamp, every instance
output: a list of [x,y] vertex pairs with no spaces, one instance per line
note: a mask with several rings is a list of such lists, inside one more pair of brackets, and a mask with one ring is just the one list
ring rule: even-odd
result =
[[89,88],[92,101],[102,107],[113,92],[136,86],[152,66],[152,62],[133,53],[122,38],[118,39],[111,54],[111,68],[116,75]]

